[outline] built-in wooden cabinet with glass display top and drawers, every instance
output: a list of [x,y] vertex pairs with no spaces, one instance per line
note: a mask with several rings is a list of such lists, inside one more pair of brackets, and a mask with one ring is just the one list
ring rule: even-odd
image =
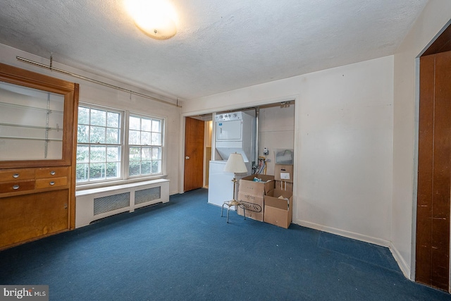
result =
[[0,250],[75,228],[78,84],[0,63]]

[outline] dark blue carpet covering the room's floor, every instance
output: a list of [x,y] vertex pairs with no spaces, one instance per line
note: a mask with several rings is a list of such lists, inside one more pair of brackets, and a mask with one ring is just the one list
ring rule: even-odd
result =
[[0,252],[0,283],[50,300],[451,300],[407,280],[385,247],[278,228],[207,204],[207,190]]

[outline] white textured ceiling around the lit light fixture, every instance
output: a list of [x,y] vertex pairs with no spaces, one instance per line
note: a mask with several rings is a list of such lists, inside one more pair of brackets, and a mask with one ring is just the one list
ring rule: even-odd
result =
[[427,0],[171,2],[161,41],[122,0],[1,0],[0,43],[189,100],[393,54]]

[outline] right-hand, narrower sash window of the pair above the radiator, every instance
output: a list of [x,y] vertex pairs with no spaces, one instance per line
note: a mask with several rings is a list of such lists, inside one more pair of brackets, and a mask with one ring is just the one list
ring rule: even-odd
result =
[[130,115],[129,176],[161,173],[162,123],[158,118]]

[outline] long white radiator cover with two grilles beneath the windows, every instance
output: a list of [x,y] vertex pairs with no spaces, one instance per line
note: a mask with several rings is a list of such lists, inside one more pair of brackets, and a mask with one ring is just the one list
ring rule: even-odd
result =
[[75,192],[75,228],[152,204],[169,202],[169,180],[149,180]]

